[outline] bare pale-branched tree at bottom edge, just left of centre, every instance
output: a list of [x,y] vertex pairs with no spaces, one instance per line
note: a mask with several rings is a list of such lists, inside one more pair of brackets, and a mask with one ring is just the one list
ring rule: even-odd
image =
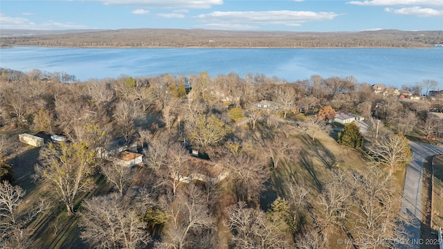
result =
[[210,214],[205,196],[195,185],[188,185],[177,196],[168,196],[163,205],[169,216],[157,248],[195,248],[193,236],[212,230],[215,219]]

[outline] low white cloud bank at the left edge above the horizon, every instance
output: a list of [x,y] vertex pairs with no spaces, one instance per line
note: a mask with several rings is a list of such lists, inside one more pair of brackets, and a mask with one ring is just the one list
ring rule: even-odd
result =
[[29,19],[23,17],[6,17],[5,15],[0,13],[0,28],[15,28],[15,29],[42,29],[42,30],[51,30],[51,29],[80,29],[80,28],[88,28],[87,26],[83,26],[80,24],[74,23],[61,23],[57,21],[46,21],[42,24],[36,24]]

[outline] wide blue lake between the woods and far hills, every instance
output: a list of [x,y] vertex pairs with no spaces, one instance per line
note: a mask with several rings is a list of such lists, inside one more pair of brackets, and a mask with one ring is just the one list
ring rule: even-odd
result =
[[354,76],[400,87],[424,79],[443,89],[443,48],[0,48],[0,66],[66,72],[78,80],[163,73],[263,73],[289,82]]

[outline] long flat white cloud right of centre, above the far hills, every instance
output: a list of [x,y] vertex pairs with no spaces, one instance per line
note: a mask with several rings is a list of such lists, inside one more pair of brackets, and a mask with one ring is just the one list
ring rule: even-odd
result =
[[307,21],[323,21],[331,20],[337,17],[338,14],[334,12],[311,12],[311,11],[291,11],[291,10],[277,10],[277,11],[230,11],[221,12],[214,11],[209,14],[198,15],[196,18],[200,21],[219,26],[252,26],[265,24],[278,24],[285,26],[300,26]]

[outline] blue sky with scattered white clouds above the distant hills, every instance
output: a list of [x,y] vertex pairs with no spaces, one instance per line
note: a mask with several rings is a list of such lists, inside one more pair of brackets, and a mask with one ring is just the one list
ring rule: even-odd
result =
[[443,30],[443,0],[0,0],[0,28]]

